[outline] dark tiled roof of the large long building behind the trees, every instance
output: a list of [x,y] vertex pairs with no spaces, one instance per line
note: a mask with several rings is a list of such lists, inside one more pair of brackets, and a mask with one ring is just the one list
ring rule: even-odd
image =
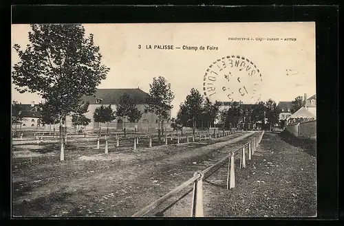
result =
[[100,99],[98,104],[119,104],[120,97],[125,93],[135,104],[147,104],[148,93],[141,89],[97,89],[94,95],[85,96],[83,100],[89,101],[89,104],[97,104],[97,99]]

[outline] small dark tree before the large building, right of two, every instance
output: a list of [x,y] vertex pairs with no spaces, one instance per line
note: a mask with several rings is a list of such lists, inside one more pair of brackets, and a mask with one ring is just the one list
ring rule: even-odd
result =
[[[120,102],[116,106],[116,113],[118,117],[123,118],[124,124],[127,118],[129,122],[138,122],[138,120],[140,120],[142,117],[142,113],[138,110],[136,104],[134,103],[133,99],[130,98],[128,93],[124,93],[120,97]],[[123,128],[123,131],[126,135],[126,126]]]

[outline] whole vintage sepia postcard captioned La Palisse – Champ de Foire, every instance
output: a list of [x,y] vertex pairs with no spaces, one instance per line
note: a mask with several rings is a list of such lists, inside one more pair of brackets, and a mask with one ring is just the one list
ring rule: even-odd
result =
[[316,216],[315,23],[12,25],[12,216]]

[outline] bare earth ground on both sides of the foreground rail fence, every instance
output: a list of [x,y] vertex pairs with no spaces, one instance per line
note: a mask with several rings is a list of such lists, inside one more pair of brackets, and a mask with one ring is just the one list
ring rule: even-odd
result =
[[[67,144],[59,161],[56,144],[14,146],[14,216],[131,216],[193,177],[197,170],[237,150],[254,133],[237,133],[188,144],[138,150],[109,142]],[[279,135],[266,133],[245,169],[235,162],[236,187],[226,190],[227,164],[204,181],[204,216],[314,216],[316,159]],[[191,189],[146,216],[189,217]]]

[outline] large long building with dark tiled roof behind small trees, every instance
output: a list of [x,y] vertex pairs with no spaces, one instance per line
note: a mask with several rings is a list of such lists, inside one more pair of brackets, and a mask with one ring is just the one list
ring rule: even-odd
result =
[[[126,128],[135,128],[137,127],[138,130],[147,130],[149,128],[158,128],[158,115],[155,113],[150,113],[145,109],[147,106],[147,97],[148,93],[142,91],[141,89],[97,89],[94,95],[89,95],[83,97],[84,101],[89,102],[89,111],[85,114],[86,117],[91,119],[91,126],[93,129],[98,129],[99,126],[109,126],[109,128],[114,128],[118,130],[122,130],[124,128],[124,118],[116,117],[114,122],[110,122],[108,125],[100,125],[98,122],[94,122],[94,111],[96,108],[104,105],[109,106],[116,111],[116,105],[120,102],[120,97],[127,93],[129,97],[133,100],[136,104],[138,110],[142,113],[142,117],[137,123],[129,123],[128,120],[125,122]],[[171,111],[169,111],[169,115],[171,117]],[[171,128],[171,122],[169,120],[165,120],[162,122],[163,128]]]

